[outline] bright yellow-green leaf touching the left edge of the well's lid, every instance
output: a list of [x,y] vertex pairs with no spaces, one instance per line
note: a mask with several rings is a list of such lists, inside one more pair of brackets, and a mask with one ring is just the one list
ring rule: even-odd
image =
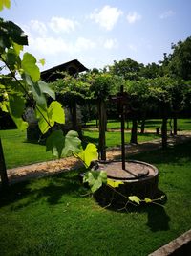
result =
[[89,167],[93,160],[98,159],[96,145],[89,143],[84,151],[78,153],[78,157],[81,158],[87,167]]

